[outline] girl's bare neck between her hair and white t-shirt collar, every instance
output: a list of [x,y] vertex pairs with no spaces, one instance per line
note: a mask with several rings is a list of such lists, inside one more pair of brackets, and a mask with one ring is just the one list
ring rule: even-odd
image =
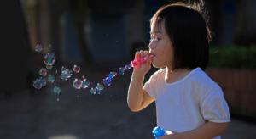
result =
[[166,82],[172,83],[180,81],[191,71],[192,69],[175,69],[174,71],[172,71],[172,68],[166,67]]

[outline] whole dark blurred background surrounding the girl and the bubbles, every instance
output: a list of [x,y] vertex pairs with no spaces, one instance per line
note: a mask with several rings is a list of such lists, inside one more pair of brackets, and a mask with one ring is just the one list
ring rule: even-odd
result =
[[[9,0],[1,4],[0,138],[84,139],[154,138],[155,104],[133,113],[126,103],[131,70],[113,78],[100,95],[90,87],[109,72],[130,64],[136,51],[148,49],[149,19],[177,0]],[[188,2],[188,1],[183,1]],[[230,129],[224,139],[256,136],[256,1],[205,0],[212,30],[205,71],[224,91],[230,107]],[[36,52],[36,46],[43,46]],[[49,47],[49,44],[51,47]],[[47,69],[55,82],[35,89],[32,82],[45,68],[44,55],[54,53]],[[79,73],[67,81],[61,67]],[[150,69],[144,81],[157,69]],[[57,72],[56,72],[57,71]],[[90,81],[75,89],[74,79]],[[61,93],[53,88],[59,86]]]

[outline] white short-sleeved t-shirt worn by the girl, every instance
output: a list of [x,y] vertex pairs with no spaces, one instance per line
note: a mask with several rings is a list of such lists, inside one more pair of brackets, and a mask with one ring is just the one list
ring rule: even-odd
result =
[[230,121],[229,106],[221,88],[199,67],[173,83],[166,82],[166,69],[160,69],[151,75],[143,89],[154,98],[157,126],[165,131],[191,131],[207,121]]

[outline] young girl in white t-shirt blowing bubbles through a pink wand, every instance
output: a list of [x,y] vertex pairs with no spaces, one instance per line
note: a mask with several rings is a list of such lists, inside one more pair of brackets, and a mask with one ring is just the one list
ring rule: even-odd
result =
[[[203,3],[201,1],[201,3]],[[217,83],[207,76],[211,33],[203,4],[174,3],[160,8],[150,20],[148,57],[134,67],[128,91],[132,112],[155,101],[159,139],[220,139],[229,128],[229,107]],[[151,63],[159,69],[143,86]]]

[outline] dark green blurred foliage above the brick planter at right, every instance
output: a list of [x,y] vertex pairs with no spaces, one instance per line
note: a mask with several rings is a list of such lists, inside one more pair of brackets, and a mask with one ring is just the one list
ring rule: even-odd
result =
[[256,46],[211,46],[209,67],[224,69],[256,69]]

